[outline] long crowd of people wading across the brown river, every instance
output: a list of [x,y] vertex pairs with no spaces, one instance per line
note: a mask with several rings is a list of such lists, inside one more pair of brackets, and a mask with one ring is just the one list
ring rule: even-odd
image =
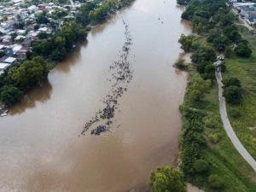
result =
[[128,84],[131,82],[133,71],[131,70],[131,62],[128,60],[128,55],[130,54],[132,39],[129,26],[125,20],[123,20],[123,24],[125,26],[125,44],[120,51],[119,61],[114,61],[109,67],[112,75],[109,81],[112,82],[112,85],[109,94],[103,99],[105,107],[97,111],[96,115],[84,124],[81,135],[85,135],[86,132],[90,131],[91,135],[99,136],[102,132],[110,130],[114,114],[119,105],[119,97],[125,93]]

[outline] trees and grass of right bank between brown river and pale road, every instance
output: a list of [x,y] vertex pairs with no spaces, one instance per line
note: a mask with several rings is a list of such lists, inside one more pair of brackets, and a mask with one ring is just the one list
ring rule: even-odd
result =
[[[234,16],[229,15],[224,1],[205,3],[201,8],[201,14],[196,12],[196,3],[196,0],[190,1],[190,12],[185,11],[183,19],[192,21],[192,28],[197,35],[180,39],[182,48],[193,53],[191,59],[194,62],[189,65],[189,83],[181,106],[182,171],[187,181],[205,191],[253,192],[256,190],[256,174],[230,143],[220,119],[218,86],[214,76],[215,69],[212,67],[216,53],[230,49],[230,43],[224,42],[220,34],[225,27],[232,25]],[[222,7],[222,11],[226,11],[224,15],[216,9],[218,6]],[[207,11],[209,8],[210,12]],[[210,15],[204,15],[204,11]],[[226,23],[223,29],[218,29],[223,23]],[[214,30],[218,35],[215,36]],[[239,34],[237,37],[239,38]],[[223,66],[222,70],[224,69]],[[229,73],[229,67],[226,69]]]

